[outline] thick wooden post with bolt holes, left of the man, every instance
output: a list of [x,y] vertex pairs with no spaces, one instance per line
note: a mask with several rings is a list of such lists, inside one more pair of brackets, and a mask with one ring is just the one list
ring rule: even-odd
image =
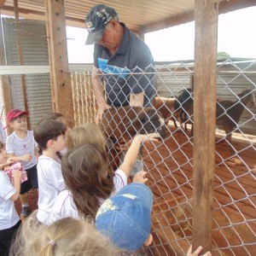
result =
[[52,108],[73,125],[73,94],[67,59],[64,0],[45,0]]

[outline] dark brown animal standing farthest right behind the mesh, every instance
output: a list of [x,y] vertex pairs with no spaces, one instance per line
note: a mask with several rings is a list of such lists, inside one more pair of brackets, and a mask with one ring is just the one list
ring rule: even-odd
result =
[[226,139],[231,144],[232,131],[235,131],[241,113],[248,107],[255,107],[256,90],[247,89],[237,95],[236,101],[218,100],[216,106],[216,125],[222,125],[226,133]]

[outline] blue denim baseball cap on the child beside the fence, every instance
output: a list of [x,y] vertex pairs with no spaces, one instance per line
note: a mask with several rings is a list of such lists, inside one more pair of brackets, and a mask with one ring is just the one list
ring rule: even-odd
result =
[[107,199],[96,214],[96,229],[115,247],[135,252],[150,235],[153,194],[143,183],[131,183]]

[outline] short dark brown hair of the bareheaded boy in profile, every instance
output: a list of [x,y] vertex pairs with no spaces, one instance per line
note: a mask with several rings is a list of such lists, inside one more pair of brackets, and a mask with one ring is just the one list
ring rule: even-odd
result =
[[39,147],[44,150],[49,148],[49,142],[56,141],[61,135],[65,137],[65,125],[56,120],[42,119],[38,122],[38,125],[34,127],[33,132],[35,141],[38,143]]

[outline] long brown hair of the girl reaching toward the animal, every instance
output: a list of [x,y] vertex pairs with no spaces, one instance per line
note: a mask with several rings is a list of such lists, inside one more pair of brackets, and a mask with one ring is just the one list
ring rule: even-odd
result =
[[114,188],[105,150],[96,143],[69,149],[62,157],[61,171],[79,213],[95,218],[99,199],[107,199]]

